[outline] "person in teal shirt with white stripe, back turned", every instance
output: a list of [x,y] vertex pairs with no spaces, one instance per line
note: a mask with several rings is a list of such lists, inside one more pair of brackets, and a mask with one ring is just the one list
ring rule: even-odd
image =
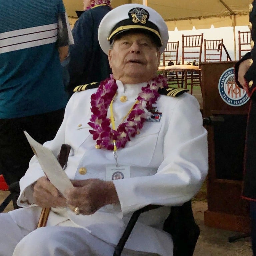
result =
[[60,61],[73,42],[62,0],[0,1],[0,170],[12,191],[38,142],[54,138],[67,103]]

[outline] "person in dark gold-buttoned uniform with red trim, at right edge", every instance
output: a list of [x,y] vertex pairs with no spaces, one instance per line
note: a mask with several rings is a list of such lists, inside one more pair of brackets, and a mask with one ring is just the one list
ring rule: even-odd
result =
[[251,97],[246,128],[242,197],[250,200],[252,251],[256,256],[256,0],[249,5],[249,11],[252,51],[236,63],[235,78],[238,86],[244,88]]

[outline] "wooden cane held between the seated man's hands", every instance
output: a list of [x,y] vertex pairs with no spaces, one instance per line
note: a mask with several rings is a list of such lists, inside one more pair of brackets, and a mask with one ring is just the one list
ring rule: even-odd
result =
[[[58,161],[61,165],[62,168],[64,168],[68,162],[68,155],[70,152],[71,147],[68,144],[62,144],[60,153],[58,155]],[[37,228],[42,228],[46,226],[49,213],[50,213],[51,208],[43,208],[39,217],[39,221],[37,224]]]

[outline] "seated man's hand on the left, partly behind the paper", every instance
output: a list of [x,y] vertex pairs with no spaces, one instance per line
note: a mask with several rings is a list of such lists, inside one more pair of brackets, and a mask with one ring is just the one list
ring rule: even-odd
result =
[[34,203],[43,208],[65,207],[66,199],[60,195],[59,191],[46,178],[41,177],[34,185]]

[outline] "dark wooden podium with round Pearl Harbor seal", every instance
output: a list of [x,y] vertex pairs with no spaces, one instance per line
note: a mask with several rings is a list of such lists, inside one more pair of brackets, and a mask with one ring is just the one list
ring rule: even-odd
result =
[[241,198],[249,98],[234,82],[236,61],[201,63],[203,116],[224,122],[206,126],[209,172],[206,226],[249,232],[249,202]]

